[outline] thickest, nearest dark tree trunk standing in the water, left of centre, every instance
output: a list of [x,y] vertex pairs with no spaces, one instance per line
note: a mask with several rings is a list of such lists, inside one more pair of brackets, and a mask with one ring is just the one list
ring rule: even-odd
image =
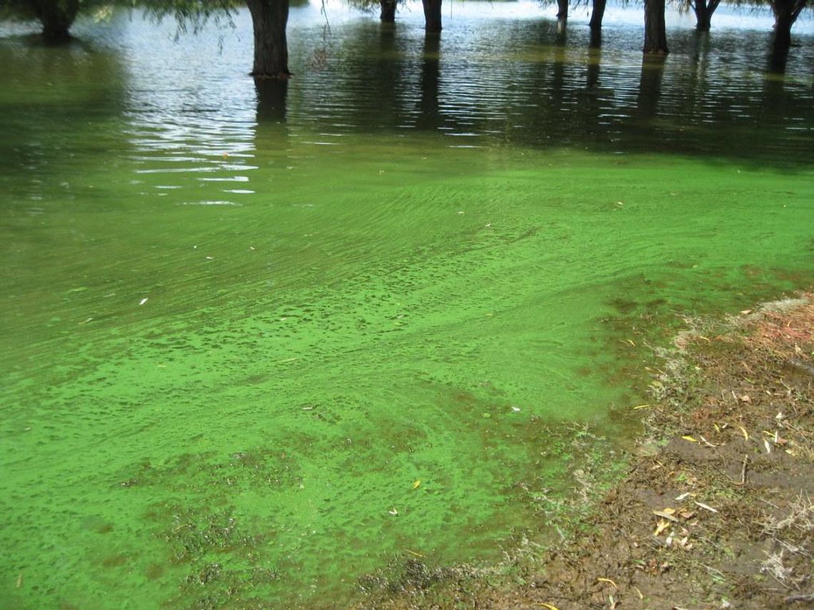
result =
[[291,72],[288,72],[286,42],[288,0],[247,0],[246,3],[252,13],[255,37],[252,76],[289,78]]

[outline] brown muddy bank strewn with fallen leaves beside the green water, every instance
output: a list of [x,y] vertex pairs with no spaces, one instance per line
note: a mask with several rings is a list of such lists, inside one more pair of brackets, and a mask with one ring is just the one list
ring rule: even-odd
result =
[[588,527],[508,579],[414,561],[370,607],[814,608],[814,295],[698,322],[661,357]]

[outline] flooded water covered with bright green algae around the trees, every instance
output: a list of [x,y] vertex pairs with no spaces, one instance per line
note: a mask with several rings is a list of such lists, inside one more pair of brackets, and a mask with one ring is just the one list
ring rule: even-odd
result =
[[[450,14],[451,11],[451,14]],[[681,316],[814,278],[810,22],[454,2],[0,29],[0,606],[342,607],[496,560]],[[531,490],[531,494],[520,490]]]

